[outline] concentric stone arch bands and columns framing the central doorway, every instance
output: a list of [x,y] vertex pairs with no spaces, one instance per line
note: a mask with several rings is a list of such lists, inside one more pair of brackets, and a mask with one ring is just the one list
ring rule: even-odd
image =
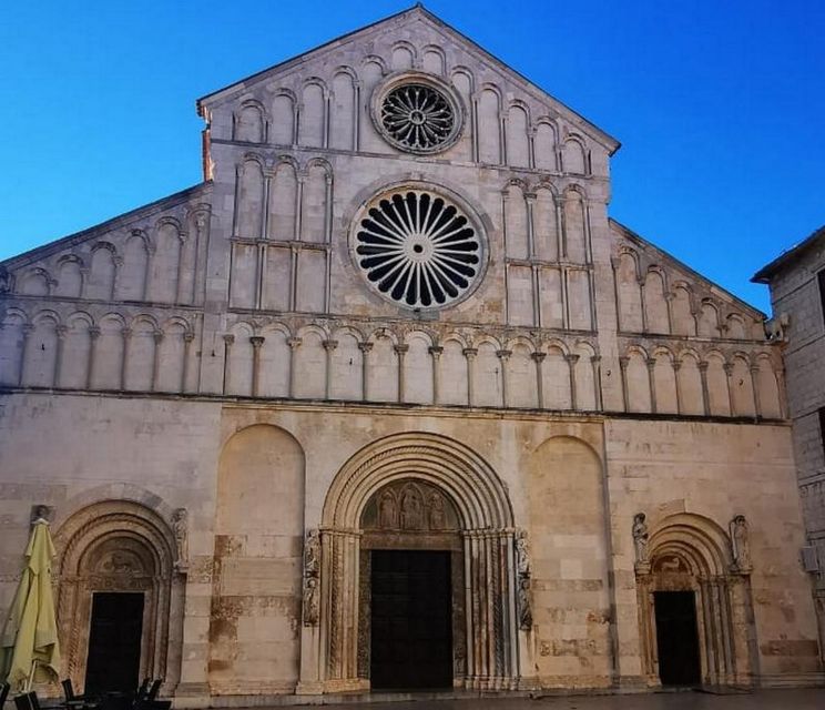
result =
[[[400,516],[405,491],[414,489],[420,491],[420,530],[412,529],[418,524],[410,523],[409,517],[403,521]],[[442,497],[446,521],[455,517],[466,580],[461,602],[467,612],[462,633],[456,636],[466,639],[466,651],[454,646],[454,659],[461,652],[466,656],[465,670],[454,673],[454,686],[516,689],[521,673],[515,529],[507,491],[496,471],[470,448],[434,434],[407,433],[380,439],[355,454],[336,475],[324,503],[323,600],[317,635],[317,680],[324,690],[369,687],[369,681],[359,677],[359,667],[365,667],[361,657],[366,642],[359,638],[361,549],[373,539],[369,528],[374,520],[380,521],[384,493],[401,496],[396,499],[394,515],[398,517],[386,514],[386,520],[396,521],[393,525],[397,524],[397,539],[403,544],[409,539],[405,540],[405,536],[432,532],[425,517],[430,510],[426,508],[426,495],[436,493]],[[451,539],[450,544],[458,545],[456,538]]]

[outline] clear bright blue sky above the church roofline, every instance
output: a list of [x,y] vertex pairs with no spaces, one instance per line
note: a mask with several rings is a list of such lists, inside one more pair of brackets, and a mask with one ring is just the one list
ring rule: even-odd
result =
[[[8,3],[0,258],[197,183],[197,97],[409,4]],[[426,7],[622,142],[611,216],[768,308],[825,223],[825,2]]]

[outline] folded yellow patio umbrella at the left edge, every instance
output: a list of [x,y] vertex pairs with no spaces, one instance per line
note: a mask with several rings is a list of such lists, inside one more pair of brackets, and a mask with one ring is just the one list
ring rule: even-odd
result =
[[31,688],[32,681],[59,677],[60,643],[51,574],[54,554],[49,524],[38,520],[26,548],[20,586],[0,636],[0,679],[6,678],[18,692]]

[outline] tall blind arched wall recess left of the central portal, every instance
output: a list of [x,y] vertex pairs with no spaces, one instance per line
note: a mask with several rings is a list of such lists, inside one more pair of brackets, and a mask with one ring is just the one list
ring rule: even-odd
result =
[[210,621],[214,694],[248,684],[284,692],[297,681],[304,475],[303,448],[276,426],[241,429],[221,450]]

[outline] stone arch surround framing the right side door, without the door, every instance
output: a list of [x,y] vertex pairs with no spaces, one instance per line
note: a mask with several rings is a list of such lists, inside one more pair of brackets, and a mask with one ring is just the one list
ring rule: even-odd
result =
[[689,592],[695,602],[702,684],[748,684],[754,670],[750,569],[734,564],[729,535],[709,518],[682,513],[654,527],[649,549],[649,560],[635,568],[648,683],[660,683],[656,594]]

